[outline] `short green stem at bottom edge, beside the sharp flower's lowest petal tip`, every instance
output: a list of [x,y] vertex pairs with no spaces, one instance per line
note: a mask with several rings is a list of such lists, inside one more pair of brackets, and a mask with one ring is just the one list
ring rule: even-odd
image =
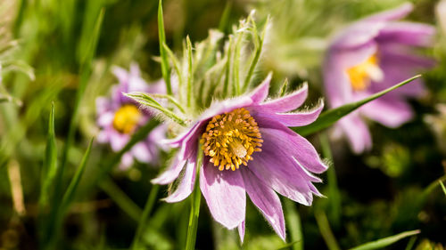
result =
[[293,201],[285,199],[285,216],[290,230],[290,237],[293,244],[293,250],[303,249],[303,237],[301,229],[301,217],[296,211]]

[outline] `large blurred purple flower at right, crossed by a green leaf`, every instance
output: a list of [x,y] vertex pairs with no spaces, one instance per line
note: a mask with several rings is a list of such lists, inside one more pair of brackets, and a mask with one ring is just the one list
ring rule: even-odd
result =
[[[434,60],[417,55],[414,47],[429,47],[434,27],[422,23],[397,21],[411,12],[412,4],[379,12],[351,24],[335,36],[326,52],[324,81],[331,108],[359,101],[409,77],[420,69],[434,66]],[[407,97],[425,93],[420,80],[369,102],[336,126],[344,133],[354,152],[371,147],[372,141],[362,117],[398,127],[413,117]]]

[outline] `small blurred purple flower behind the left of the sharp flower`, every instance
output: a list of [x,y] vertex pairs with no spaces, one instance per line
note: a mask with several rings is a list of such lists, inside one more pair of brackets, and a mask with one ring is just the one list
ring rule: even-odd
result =
[[[123,93],[165,93],[165,85],[162,81],[147,85],[135,63],[130,66],[129,72],[115,67],[113,74],[120,84],[111,88],[110,97],[96,99],[97,125],[101,127],[97,141],[110,143],[113,151],[119,151],[128,143],[136,129],[152,118],[147,110],[139,109],[139,105]],[[134,158],[143,163],[156,164],[160,147],[163,146],[159,141],[165,139],[164,135],[164,125],[154,128],[144,141],[136,143],[122,156],[120,168],[127,169],[133,164]]]

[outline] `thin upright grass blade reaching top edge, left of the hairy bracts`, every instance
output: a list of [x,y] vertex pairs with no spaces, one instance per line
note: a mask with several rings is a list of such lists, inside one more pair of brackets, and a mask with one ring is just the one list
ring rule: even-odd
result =
[[162,16],[162,0],[158,3],[158,40],[160,43],[161,55],[161,73],[166,83],[166,90],[168,94],[172,94],[172,86],[170,85],[170,67],[164,44],[166,44],[166,33],[164,31],[164,18]]

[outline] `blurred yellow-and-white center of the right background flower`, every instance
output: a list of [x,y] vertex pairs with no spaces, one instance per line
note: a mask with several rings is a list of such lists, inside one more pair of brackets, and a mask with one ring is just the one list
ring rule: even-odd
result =
[[378,63],[378,57],[373,54],[367,60],[347,69],[347,75],[350,77],[351,87],[354,91],[365,90],[370,85],[371,80],[375,82],[383,80],[384,74]]

